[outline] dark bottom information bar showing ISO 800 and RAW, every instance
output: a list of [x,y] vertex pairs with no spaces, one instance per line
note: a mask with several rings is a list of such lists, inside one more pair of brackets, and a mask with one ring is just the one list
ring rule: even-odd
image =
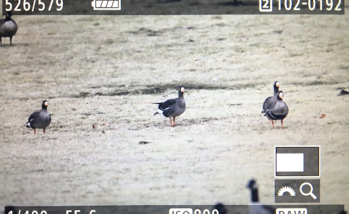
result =
[[[5,206],[5,214],[226,214],[249,213],[259,205]],[[276,214],[340,213],[344,205],[270,205]]]

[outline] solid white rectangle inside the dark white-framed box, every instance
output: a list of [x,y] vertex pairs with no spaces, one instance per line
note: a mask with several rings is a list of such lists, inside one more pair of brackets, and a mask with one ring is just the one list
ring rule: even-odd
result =
[[277,172],[303,172],[304,154],[276,154]]

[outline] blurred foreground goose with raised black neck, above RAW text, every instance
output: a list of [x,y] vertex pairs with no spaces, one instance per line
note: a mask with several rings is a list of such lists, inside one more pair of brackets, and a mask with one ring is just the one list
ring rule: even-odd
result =
[[255,180],[250,180],[247,188],[251,190],[251,204],[248,206],[248,214],[275,214],[275,209],[262,205],[258,198],[258,185]]

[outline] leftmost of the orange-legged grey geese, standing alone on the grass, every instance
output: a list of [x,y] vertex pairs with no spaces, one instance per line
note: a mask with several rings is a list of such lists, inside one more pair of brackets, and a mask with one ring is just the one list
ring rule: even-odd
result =
[[34,129],[34,134],[36,134],[36,128],[42,128],[45,134],[46,127],[51,123],[51,115],[47,112],[48,105],[49,103],[44,100],[41,105],[42,109],[32,113],[25,124],[25,127]]

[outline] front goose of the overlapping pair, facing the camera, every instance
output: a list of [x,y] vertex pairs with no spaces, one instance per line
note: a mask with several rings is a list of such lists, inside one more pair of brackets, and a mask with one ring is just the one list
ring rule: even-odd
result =
[[283,128],[283,120],[288,115],[288,107],[285,102],[283,102],[283,93],[279,91],[276,96],[276,102],[269,103],[266,111],[266,116],[269,120],[272,120],[273,128],[274,120],[281,120],[281,128]]

